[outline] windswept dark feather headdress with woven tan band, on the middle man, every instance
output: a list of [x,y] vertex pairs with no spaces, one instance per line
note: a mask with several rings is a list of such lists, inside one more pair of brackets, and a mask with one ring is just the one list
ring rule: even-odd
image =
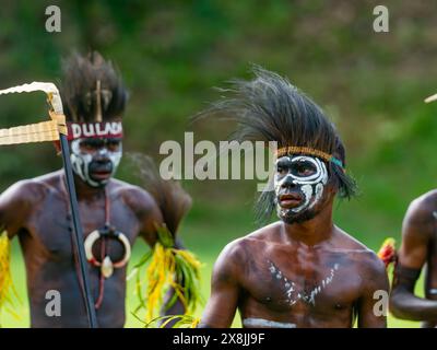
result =
[[[345,150],[335,127],[322,109],[287,79],[253,66],[255,79],[233,80],[231,89],[220,89],[221,100],[194,119],[217,116],[237,121],[232,135],[237,141],[275,141],[277,155],[306,154],[327,163],[339,196],[356,192],[354,179],[345,173]],[[263,191],[256,206],[258,219],[274,210],[274,192]]]

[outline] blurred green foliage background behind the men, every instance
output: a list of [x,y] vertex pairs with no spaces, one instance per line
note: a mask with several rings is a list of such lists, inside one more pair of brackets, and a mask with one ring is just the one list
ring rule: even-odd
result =
[[[188,118],[217,97],[212,86],[249,78],[255,62],[287,75],[326,107],[347,148],[362,195],[335,209],[336,223],[377,249],[400,240],[408,203],[436,186],[437,2],[385,1],[390,32],[373,31],[378,1],[2,1],[0,86],[57,81],[60,60],[96,49],[130,90],[125,150],[156,159],[165,140],[224,139],[233,126]],[[45,31],[58,4],[62,32]],[[40,96],[0,100],[1,126],[44,119]],[[50,144],[4,147],[0,188],[59,167]],[[133,180],[121,163],[119,177]],[[255,228],[255,182],[186,182],[194,199],[182,235],[214,260],[231,238]],[[211,245],[208,236],[220,236]],[[196,240],[193,237],[196,236]],[[201,245],[203,242],[204,245]],[[206,276],[206,278],[209,278]]]

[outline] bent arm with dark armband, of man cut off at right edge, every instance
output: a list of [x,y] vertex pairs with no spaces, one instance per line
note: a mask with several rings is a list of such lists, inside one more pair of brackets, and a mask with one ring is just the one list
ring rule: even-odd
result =
[[403,222],[402,245],[390,296],[390,311],[398,318],[437,319],[437,301],[414,295],[414,287],[429,254],[428,247],[435,230],[433,201],[430,197],[413,201]]

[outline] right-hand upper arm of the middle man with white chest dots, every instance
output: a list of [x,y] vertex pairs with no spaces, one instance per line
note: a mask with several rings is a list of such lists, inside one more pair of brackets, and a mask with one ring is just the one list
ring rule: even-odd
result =
[[[387,296],[390,285],[386,267],[374,253],[366,264],[363,283],[363,294],[357,305],[358,328],[386,328]],[[379,291],[382,295],[376,293]]]

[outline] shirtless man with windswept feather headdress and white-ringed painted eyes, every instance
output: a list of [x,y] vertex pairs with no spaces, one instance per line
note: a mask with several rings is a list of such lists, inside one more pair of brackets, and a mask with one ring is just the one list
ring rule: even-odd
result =
[[376,254],[332,221],[335,195],[350,197],[345,153],[322,110],[277,74],[255,69],[206,115],[236,119],[238,139],[277,142],[274,190],[260,212],[280,220],[229,243],[215,262],[200,327],[386,327],[374,293],[388,291]]

